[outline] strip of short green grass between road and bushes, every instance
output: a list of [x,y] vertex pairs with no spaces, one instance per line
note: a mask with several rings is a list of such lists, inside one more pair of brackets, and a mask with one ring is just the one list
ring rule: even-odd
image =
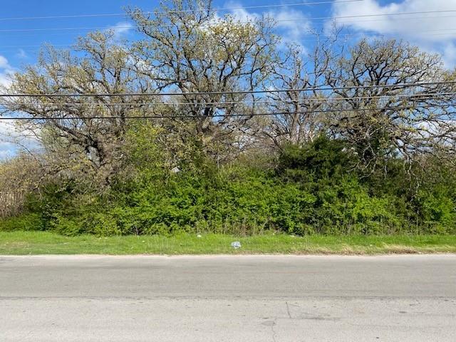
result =
[[[239,241],[241,249],[231,242]],[[14,254],[398,254],[456,253],[456,236],[64,237],[51,232],[0,232],[0,255]]]

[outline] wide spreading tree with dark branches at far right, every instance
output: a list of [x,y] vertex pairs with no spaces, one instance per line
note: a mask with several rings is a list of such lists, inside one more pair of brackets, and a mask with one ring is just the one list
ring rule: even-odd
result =
[[402,41],[363,40],[333,60],[325,77],[333,88],[331,130],[353,144],[365,166],[392,155],[411,162],[455,152],[455,87],[445,83],[455,78],[440,56]]

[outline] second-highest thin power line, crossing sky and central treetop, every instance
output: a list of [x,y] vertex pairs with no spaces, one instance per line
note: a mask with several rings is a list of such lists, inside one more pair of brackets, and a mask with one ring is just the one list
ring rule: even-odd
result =
[[[291,18],[291,19],[276,19],[274,20],[277,23],[280,22],[289,22],[289,21],[317,21],[317,20],[338,20],[338,19],[357,19],[357,18],[374,18],[374,17],[383,17],[383,16],[406,16],[406,15],[415,15],[415,14],[439,14],[439,13],[456,13],[456,9],[447,9],[440,11],[415,11],[415,12],[400,12],[400,13],[382,13],[382,14],[360,14],[356,16],[321,16],[321,17],[303,17],[303,18]],[[267,16],[266,16],[267,17]],[[438,18],[436,16],[435,18]],[[253,19],[257,19],[252,17]],[[271,18],[274,19],[274,18]],[[242,24],[248,24],[250,21],[240,21]],[[148,28],[148,27],[175,27],[175,24],[151,24],[144,26],[93,26],[93,27],[61,27],[61,28],[8,28],[1,29],[0,33],[13,33],[13,32],[40,32],[40,31],[75,31],[75,30],[108,30],[108,29],[119,29],[119,28]]]

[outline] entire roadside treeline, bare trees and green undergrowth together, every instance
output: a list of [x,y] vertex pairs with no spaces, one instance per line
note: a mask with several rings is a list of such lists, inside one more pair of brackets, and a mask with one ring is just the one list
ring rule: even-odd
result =
[[[454,234],[456,75],[403,41],[285,45],[274,21],[128,9],[16,73],[0,229]],[[267,91],[264,91],[267,90]],[[58,96],[56,96],[58,94]]]

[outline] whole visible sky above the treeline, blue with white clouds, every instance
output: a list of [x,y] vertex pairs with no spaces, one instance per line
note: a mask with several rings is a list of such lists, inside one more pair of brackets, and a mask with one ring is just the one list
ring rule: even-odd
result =
[[[297,4],[306,0],[237,0],[214,2],[214,7],[242,7],[268,4]],[[330,0],[307,0],[319,2]],[[331,1],[330,1],[331,2]],[[456,66],[456,0],[361,0],[343,1],[336,4],[311,6],[289,6],[276,9],[237,9],[232,14],[244,18],[258,16],[269,11],[271,16],[279,20],[277,33],[285,40],[297,41],[309,46],[312,36],[306,33],[306,28],[321,29],[329,22],[336,20],[345,28],[344,33],[359,36],[386,36],[404,38],[423,50],[442,54],[445,64],[452,68]],[[134,38],[135,33],[131,23],[125,16],[105,16],[92,18],[40,19],[40,20],[4,20],[6,18],[36,17],[36,16],[65,16],[84,14],[120,14],[125,6],[138,6],[145,11],[155,9],[159,1],[151,0],[18,0],[2,1],[0,11],[0,83],[7,83],[9,73],[19,71],[26,64],[33,64],[43,43],[56,46],[68,46],[76,41],[78,36],[89,30],[60,30],[60,28],[81,27],[122,27],[119,35]],[[414,14],[407,16],[378,16],[358,17],[333,20],[314,20],[320,17],[350,17],[366,14],[398,14],[422,11],[448,11],[445,13]],[[451,12],[452,11],[452,12]],[[222,14],[224,12],[221,12]],[[288,21],[300,19],[299,21]],[[11,32],[4,30],[22,30],[46,28],[50,31]],[[5,133],[13,132],[11,126],[0,122],[0,159],[11,155],[15,147],[9,142],[2,141]],[[12,133],[14,135],[14,132]],[[4,138],[3,138],[4,140]]]

